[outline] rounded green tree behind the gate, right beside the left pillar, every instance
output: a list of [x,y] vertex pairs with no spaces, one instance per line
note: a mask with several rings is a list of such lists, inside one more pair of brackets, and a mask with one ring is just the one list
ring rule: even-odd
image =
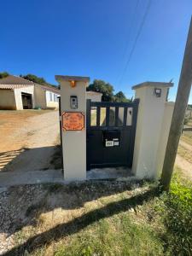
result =
[[93,84],[87,87],[87,90],[93,90],[102,93],[102,102],[113,102],[113,85],[103,80],[95,79]]

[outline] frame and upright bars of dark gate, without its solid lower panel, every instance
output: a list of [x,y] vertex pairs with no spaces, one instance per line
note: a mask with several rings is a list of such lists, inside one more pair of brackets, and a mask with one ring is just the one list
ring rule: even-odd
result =
[[[127,164],[128,167],[131,168],[132,160],[133,160],[133,152],[134,152],[134,144],[136,137],[136,127],[137,127],[137,112],[138,112],[139,99],[135,99],[133,102],[91,102],[87,100],[86,102],[86,131],[87,131],[87,171],[90,170],[91,167],[96,167],[90,163],[90,147],[89,147],[89,132],[90,131],[111,131],[111,130],[130,130],[130,145],[129,145],[129,162]],[[90,110],[91,107],[96,108],[96,125],[90,125]],[[100,125],[100,110],[101,108],[106,108],[106,125]],[[114,125],[109,125],[109,113],[110,108],[115,108],[115,121]],[[119,122],[119,108],[125,108],[124,112],[124,120],[122,125],[118,125]],[[127,119],[127,110],[128,108],[132,108],[132,122],[131,125],[126,125]],[[113,165],[118,166],[118,165]],[[102,163],[100,167],[106,167],[105,163]]]

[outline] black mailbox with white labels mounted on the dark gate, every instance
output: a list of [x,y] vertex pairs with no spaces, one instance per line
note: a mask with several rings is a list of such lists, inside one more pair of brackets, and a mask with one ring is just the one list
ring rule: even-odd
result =
[[118,147],[120,143],[120,131],[103,131],[102,138],[104,147]]

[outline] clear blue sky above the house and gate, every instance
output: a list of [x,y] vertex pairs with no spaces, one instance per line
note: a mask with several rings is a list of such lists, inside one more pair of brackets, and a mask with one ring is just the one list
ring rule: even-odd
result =
[[129,97],[134,84],[173,79],[173,100],[192,1],[151,0],[125,70],[148,0],[136,5],[137,0],[1,1],[0,71],[34,73],[53,84],[55,74],[90,76]]

